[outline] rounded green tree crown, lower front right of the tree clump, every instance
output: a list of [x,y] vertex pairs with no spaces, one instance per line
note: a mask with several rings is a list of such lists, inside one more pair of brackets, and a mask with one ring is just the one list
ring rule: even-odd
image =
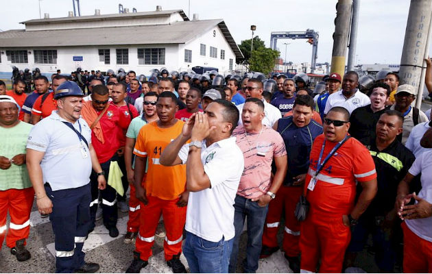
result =
[[259,71],[267,75],[273,71],[278,56],[279,51],[275,51],[268,47],[252,51],[252,58],[249,60],[249,69],[250,71]]

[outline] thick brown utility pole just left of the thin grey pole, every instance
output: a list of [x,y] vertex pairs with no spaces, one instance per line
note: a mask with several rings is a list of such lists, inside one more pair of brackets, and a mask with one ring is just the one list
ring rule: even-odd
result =
[[331,73],[345,73],[346,47],[350,32],[352,0],[339,0],[336,4],[335,33],[333,34],[333,53],[331,57]]

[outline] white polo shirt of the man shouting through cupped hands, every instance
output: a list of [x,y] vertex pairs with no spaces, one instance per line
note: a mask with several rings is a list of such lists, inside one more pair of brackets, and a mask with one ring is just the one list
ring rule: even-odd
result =
[[[189,144],[186,144],[178,153],[183,164],[188,153]],[[211,242],[219,242],[222,237],[230,240],[235,236],[234,199],[244,169],[243,153],[235,137],[210,147],[203,140],[201,161],[211,188],[189,194],[185,229]]]

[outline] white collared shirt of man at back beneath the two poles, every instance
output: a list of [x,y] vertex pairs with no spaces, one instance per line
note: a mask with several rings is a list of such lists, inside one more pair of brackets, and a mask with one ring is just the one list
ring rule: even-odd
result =
[[370,99],[368,95],[365,95],[363,92],[357,91],[350,98],[346,99],[346,97],[342,94],[342,90],[339,90],[331,95],[328,95],[326,108],[324,108],[324,114],[327,114],[331,108],[334,107],[343,107],[352,113],[356,108],[363,107],[365,105],[370,104]]

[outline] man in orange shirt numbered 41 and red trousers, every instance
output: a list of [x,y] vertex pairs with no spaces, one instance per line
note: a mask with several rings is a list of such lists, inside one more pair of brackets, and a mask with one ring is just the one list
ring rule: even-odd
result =
[[[186,166],[159,164],[162,151],[182,132],[183,122],[175,118],[178,110],[173,92],[160,93],[156,103],[159,120],[141,128],[134,148],[135,195],[141,201],[140,227],[136,237],[134,260],[126,273],[139,273],[152,256],[154,234],[163,215],[167,236],[164,241],[165,260],[173,273],[186,273],[180,262],[182,234],[186,221],[189,192],[186,191]],[[149,166],[145,182],[145,160]]]

